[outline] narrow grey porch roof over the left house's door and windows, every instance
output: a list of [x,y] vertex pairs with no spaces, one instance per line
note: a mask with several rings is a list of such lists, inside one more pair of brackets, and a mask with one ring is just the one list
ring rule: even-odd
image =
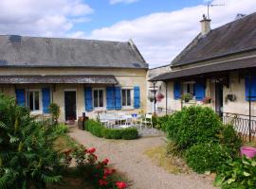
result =
[[0,84],[118,84],[113,75],[66,75],[66,76],[0,76]]

